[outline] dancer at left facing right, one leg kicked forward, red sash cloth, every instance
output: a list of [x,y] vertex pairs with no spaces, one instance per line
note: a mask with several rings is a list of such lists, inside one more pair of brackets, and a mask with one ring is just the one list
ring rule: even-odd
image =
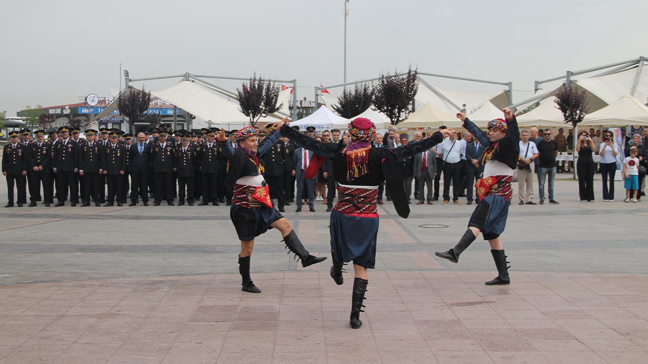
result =
[[288,249],[301,259],[303,267],[326,259],[325,256],[310,255],[297,238],[290,222],[275,210],[268,192],[268,185],[262,175],[264,168],[260,157],[279,140],[278,128],[286,120],[287,118],[275,123],[275,130],[268,134],[260,144],[258,131],[251,126],[237,131],[235,134],[236,148],[227,142],[224,130],[221,130],[216,137],[224,154],[229,159],[225,179],[227,196],[231,196],[232,199],[229,217],[241,241],[238,271],[242,278],[242,290],[246,292],[260,293],[261,291],[249,277],[249,260],[255,237],[265,233],[268,229],[275,228],[281,231],[283,241]]

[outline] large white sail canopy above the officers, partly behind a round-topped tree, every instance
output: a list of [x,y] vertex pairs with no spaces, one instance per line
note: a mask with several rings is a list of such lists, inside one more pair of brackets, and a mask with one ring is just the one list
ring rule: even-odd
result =
[[[238,104],[215,95],[195,82],[181,81],[167,89],[151,91],[151,95],[167,100],[202,120],[211,120],[211,126],[229,130],[249,125],[249,118],[240,112]],[[281,119],[278,115],[268,115],[258,122],[264,125],[278,119]]]

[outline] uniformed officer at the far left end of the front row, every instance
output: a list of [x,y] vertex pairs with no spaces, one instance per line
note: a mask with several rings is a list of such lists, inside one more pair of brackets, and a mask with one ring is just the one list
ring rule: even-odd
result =
[[14,183],[18,192],[18,207],[27,203],[27,147],[18,142],[18,132],[9,132],[9,143],[5,144],[2,154],[2,174],[6,177],[8,203],[5,207],[14,207]]

